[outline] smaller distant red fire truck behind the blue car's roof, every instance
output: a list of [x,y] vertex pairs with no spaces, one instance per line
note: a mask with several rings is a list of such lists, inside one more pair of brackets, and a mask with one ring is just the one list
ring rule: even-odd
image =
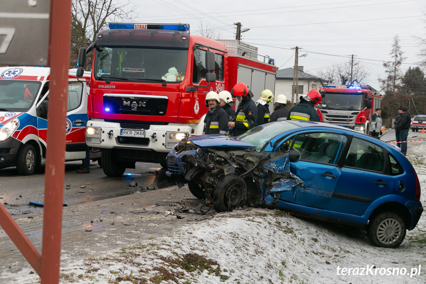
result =
[[322,120],[369,134],[371,116],[380,108],[379,92],[370,85],[335,86],[319,89]]

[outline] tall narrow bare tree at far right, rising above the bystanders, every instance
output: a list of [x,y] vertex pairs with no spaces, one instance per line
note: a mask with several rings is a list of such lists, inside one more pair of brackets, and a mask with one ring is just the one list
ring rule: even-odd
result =
[[392,49],[389,52],[392,60],[383,63],[383,66],[386,68],[385,73],[387,78],[379,79],[382,84],[382,90],[384,90],[385,93],[386,91],[395,93],[401,86],[401,79],[403,76],[401,72],[401,64],[407,58],[403,57],[402,54],[404,54],[404,52],[401,50],[401,45],[399,45],[398,36],[395,36],[393,38]]

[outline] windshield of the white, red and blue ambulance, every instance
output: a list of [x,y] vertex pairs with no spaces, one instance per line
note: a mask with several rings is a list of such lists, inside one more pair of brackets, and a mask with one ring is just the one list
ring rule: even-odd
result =
[[36,99],[40,85],[38,81],[1,80],[1,111],[27,111]]

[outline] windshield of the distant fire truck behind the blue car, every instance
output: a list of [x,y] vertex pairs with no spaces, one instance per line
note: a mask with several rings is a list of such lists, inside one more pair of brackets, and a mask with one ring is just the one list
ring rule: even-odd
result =
[[363,109],[363,93],[325,93],[321,101],[324,110],[360,111]]

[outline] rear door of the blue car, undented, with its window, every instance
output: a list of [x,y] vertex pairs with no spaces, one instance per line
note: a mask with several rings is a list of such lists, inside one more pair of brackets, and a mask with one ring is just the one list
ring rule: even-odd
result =
[[385,174],[386,157],[379,145],[353,137],[329,210],[362,215],[372,202],[397,188],[394,178]]

